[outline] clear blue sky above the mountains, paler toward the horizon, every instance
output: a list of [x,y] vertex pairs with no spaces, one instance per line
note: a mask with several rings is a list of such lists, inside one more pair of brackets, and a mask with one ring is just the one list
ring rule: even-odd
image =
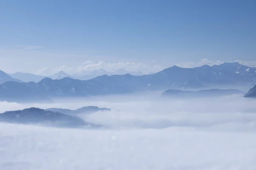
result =
[[0,0],[0,40],[6,72],[255,61],[256,0]]

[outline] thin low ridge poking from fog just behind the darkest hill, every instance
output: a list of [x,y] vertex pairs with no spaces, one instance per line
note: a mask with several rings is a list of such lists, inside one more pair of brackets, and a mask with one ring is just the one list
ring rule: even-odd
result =
[[94,113],[97,111],[111,111],[109,108],[99,108],[97,106],[85,106],[76,110],[70,110],[70,109],[63,109],[63,108],[48,108],[46,109],[47,111],[54,111],[54,112],[60,112],[64,114],[70,114],[70,115],[75,115],[75,114],[90,114]]

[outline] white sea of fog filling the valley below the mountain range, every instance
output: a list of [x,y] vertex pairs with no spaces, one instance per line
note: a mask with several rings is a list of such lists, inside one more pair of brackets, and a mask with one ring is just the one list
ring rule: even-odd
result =
[[96,105],[80,115],[107,128],[67,129],[0,123],[0,170],[255,170],[256,100],[241,95],[160,99],[156,95],[0,103],[29,107]]

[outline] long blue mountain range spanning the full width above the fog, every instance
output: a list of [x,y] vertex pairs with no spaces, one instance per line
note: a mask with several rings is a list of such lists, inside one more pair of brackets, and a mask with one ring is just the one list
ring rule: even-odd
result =
[[172,66],[155,74],[142,76],[102,75],[89,80],[65,77],[44,78],[40,82],[4,82],[0,85],[0,100],[26,102],[55,97],[86,97],[106,94],[127,94],[137,91],[167,89],[211,89],[256,84],[256,68],[238,62],[202,65],[196,68]]

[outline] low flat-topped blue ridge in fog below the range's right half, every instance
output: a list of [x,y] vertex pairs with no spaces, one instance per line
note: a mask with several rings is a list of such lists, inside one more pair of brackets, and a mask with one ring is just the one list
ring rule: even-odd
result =
[[161,96],[164,97],[212,97],[212,96],[224,96],[232,94],[244,94],[244,92],[236,89],[210,89],[201,91],[181,91],[169,89],[164,91]]

